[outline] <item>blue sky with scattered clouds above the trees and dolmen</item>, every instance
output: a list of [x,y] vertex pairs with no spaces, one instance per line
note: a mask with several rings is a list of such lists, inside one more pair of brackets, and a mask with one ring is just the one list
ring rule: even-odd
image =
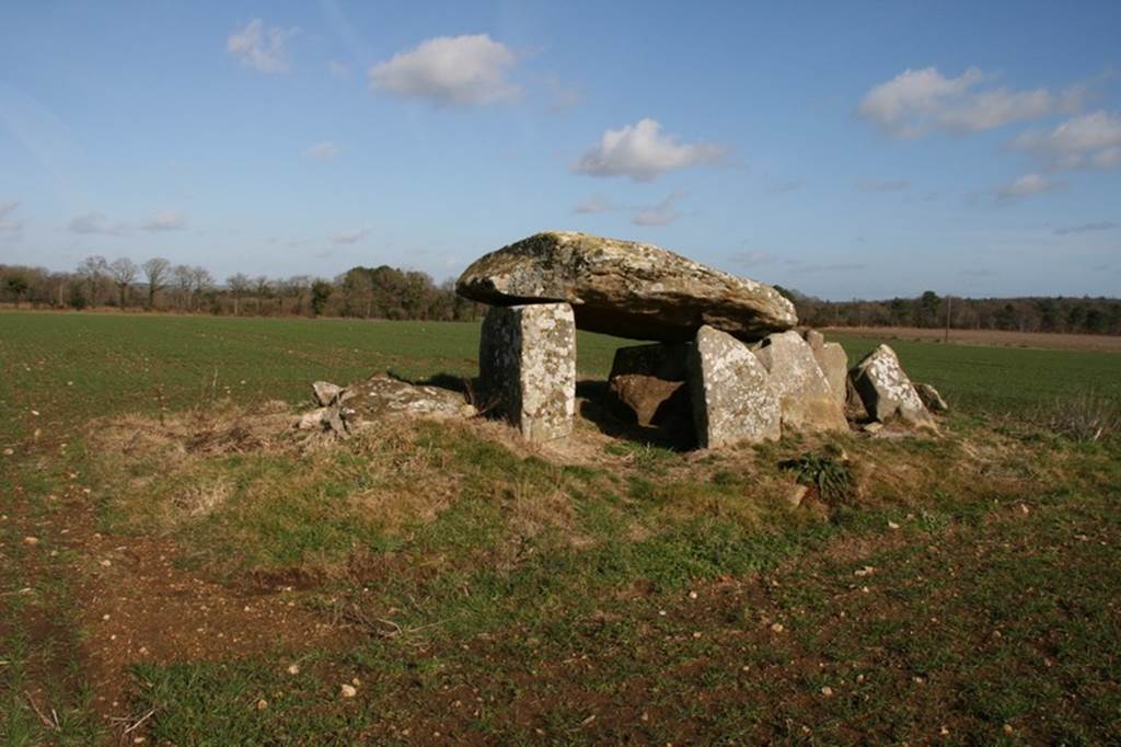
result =
[[1121,3],[25,2],[0,262],[437,280],[545,229],[827,298],[1121,294]]

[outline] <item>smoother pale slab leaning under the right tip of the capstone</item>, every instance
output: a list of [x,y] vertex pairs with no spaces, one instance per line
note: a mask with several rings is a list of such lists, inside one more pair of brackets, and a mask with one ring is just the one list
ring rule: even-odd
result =
[[[824,350],[824,348],[823,348]],[[767,335],[754,354],[770,375],[782,426],[797,431],[843,431],[843,398],[837,397],[809,344],[797,332]]]

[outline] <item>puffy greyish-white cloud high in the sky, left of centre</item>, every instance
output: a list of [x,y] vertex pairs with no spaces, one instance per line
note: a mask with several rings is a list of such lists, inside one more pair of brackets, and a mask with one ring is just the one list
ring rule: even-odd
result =
[[487,34],[439,36],[371,67],[370,90],[439,103],[493,103],[519,93],[507,80],[515,61]]

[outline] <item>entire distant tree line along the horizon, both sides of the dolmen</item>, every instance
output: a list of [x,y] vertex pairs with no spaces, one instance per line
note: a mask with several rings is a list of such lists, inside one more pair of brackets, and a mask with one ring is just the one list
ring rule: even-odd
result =
[[[927,290],[915,298],[823,301],[789,288],[808,326],[921,326],[1020,332],[1121,334],[1121,299],[1101,297],[963,298]],[[415,270],[353,267],[325,279],[249,277],[215,280],[200,266],[155,257],[87,257],[71,273],[0,265],[0,302],[36,307],[178,311],[254,316],[355,316],[389,320],[473,320],[481,304]]]

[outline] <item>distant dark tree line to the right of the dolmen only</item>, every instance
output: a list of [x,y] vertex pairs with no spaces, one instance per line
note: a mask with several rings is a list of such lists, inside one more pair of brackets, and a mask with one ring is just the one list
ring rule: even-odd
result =
[[779,288],[808,326],[920,326],[955,330],[1121,334],[1121,299],[964,298],[927,290],[915,298],[823,301]]

